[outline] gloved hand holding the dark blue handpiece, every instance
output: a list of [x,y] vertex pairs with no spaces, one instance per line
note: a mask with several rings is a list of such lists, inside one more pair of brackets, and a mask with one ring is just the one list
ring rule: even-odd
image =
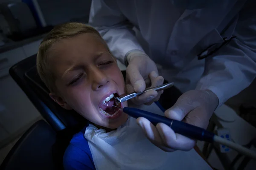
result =
[[[206,128],[218,102],[218,97],[210,90],[188,91],[178,98],[172,108],[165,111],[165,116]],[[191,150],[195,146],[195,140],[175,133],[163,123],[154,126],[147,119],[140,117],[137,124],[142,127],[147,138],[164,151]]]

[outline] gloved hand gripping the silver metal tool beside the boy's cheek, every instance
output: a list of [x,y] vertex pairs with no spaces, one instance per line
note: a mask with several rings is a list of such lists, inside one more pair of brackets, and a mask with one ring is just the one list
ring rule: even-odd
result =
[[[158,76],[157,66],[142,51],[130,51],[126,57],[128,66],[126,68],[126,90],[127,93],[141,93],[146,86],[152,88],[163,84],[163,77]],[[148,88],[147,87],[147,88]],[[163,91],[148,91],[140,96],[131,99],[134,104],[151,105],[159,100]]]

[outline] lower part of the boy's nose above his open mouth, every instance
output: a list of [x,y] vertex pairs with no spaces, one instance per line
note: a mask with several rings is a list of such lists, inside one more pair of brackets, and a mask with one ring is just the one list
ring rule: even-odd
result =
[[108,77],[102,72],[97,69],[95,69],[92,74],[92,88],[94,91],[99,90],[100,88],[103,88],[105,85],[109,83]]

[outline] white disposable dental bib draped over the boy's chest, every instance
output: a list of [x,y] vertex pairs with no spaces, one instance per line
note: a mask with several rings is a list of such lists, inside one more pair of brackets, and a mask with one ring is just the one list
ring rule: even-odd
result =
[[[155,103],[132,107],[164,115]],[[108,133],[90,124],[84,136],[96,170],[211,169],[194,149],[172,153],[159,149],[145,137],[136,119],[132,117],[124,125]]]

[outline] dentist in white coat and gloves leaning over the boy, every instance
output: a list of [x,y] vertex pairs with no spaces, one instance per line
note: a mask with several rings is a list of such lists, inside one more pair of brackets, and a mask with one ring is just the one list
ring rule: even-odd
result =
[[[92,0],[89,24],[127,65],[128,92],[144,91],[149,74],[163,83],[161,75],[183,92],[165,116],[206,128],[213,111],[256,76],[255,8],[254,0]],[[150,104],[160,94],[134,102]],[[167,125],[137,123],[162,150],[195,145]]]

